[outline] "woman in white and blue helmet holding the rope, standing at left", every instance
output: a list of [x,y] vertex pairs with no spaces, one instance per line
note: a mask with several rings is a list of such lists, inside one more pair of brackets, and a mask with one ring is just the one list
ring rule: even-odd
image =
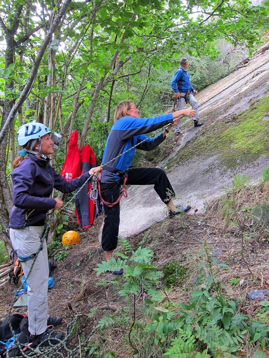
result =
[[90,175],[102,170],[102,167],[92,168],[67,182],[49,163],[49,155],[54,153],[60,136],[55,138],[57,143],[51,139],[50,129],[42,123],[20,126],[17,141],[22,150],[13,162],[14,170],[11,174],[14,206],[9,221],[10,239],[27,278],[29,331],[35,345],[42,342],[54,344],[62,338],[61,334],[47,328],[48,325],[61,323],[61,318],[48,315],[49,266],[46,240],[40,250],[40,238],[45,230],[48,210],[63,206],[60,199],[51,197],[53,188],[63,193],[72,192],[84,184]]

